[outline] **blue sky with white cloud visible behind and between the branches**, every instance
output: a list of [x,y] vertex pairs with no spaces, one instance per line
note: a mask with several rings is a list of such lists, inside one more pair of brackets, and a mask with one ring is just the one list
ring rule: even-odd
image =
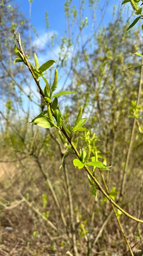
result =
[[[75,4],[76,9],[79,10],[79,0],[72,0],[72,4]],[[106,4],[106,0],[100,0],[98,2],[98,5],[100,8],[103,8]],[[30,3],[28,2],[28,0],[14,0],[13,1],[14,4],[17,4],[20,8],[20,10],[24,13],[25,17],[28,19],[29,18],[29,8],[30,8]],[[53,52],[50,51],[50,49],[48,48],[48,36],[47,36],[47,32],[49,33],[49,35],[51,36],[52,33],[56,33],[57,34],[57,38],[60,41],[61,37],[64,34],[65,29],[67,28],[67,24],[66,24],[66,18],[65,18],[65,13],[64,13],[64,3],[65,0],[33,0],[31,3],[31,24],[33,27],[35,27],[37,34],[38,34],[38,38],[35,36],[33,30],[31,29],[31,35],[32,35],[32,45],[35,48],[35,52],[38,56],[39,59],[39,65],[43,64],[45,61],[48,61],[49,59],[55,59],[56,60],[56,56],[58,56],[58,53],[60,52],[60,46],[59,45],[54,45],[53,47]],[[85,11],[83,14],[83,18],[88,17],[88,24],[89,26],[87,28],[85,28],[84,31],[84,39],[87,38],[89,36],[90,33],[90,28],[92,25],[92,20],[91,20],[91,13],[90,13],[90,9],[89,9],[89,0],[85,0]],[[113,5],[118,5],[121,4],[121,0],[109,0],[109,4],[108,7],[106,9],[106,13],[104,15],[104,19],[103,19],[103,23],[102,25],[104,25],[106,27],[106,25],[108,25],[108,22],[112,21],[112,13],[113,13]],[[12,5],[12,4],[11,4]],[[117,8],[116,8],[117,9]],[[50,27],[47,30],[46,26],[45,26],[45,12],[48,12],[49,15],[49,23],[50,23]],[[100,22],[101,19],[101,13],[98,11],[96,13],[96,22],[97,25]],[[28,32],[27,32],[28,33]],[[76,38],[76,31],[75,31],[75,38]],[[28,35],[27,35],[28,37]],[[39,47],[39,49],[44,49],[44,52],[38,52],[37,51],[37,47]],[[34,54],[34,53],[33,53]],[[29,54],[28,54],[29,55]],[[72,47],[71,47],[71,56],[69,54],[69,65],[70,65],[70,58],[72,57]],[[55,68],[56,66],[54,66]],[[63,85],[65,83],[65,79],[67,77],[67,72],[68,72],[68,68],[66,70],[60,70],[59,73],[59,83],[58,83],[58,88],[63,88]],[[41,81],[40,81],[41,82]],[[68,82],[70,82],[70,78],[67,79],[67,84]],[[44,83],[41,83],[41,87],[44,86]],[[35,91],[35,82],[34,81],[30,81],[30,87],[32,88],[32,90]],[[29,88],[28,86],[24,87],[24,90],[26,91],[26,93],[29,93]],[[38,92],[37,92],[38,95]],[[35,99],[35,97],[33,96],[33,99]],[[25,99],[26,102],[26,99]]]

